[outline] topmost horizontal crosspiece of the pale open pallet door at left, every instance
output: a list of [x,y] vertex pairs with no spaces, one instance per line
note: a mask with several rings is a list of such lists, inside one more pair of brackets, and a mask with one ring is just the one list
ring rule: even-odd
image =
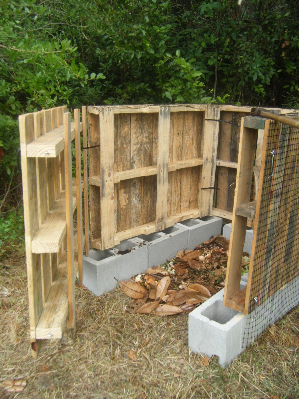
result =
[[[55,158],[64,149],[64,130],[63,125],[50,130],[36,140],[27,144],[28,158]],[[82,122],[80,122],[80,132],[82,132]],[[75,138],[75,122],[71,122],[71,140]]]

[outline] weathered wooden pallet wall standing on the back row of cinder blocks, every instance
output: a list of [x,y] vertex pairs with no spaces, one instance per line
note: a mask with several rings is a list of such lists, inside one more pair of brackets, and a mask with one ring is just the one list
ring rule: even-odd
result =
[[189,218],[232,219],[227,207],[213,206],[216,168],[237,168],[217,159],[222,111],[232,118],[250,108],[88,107],[91,247],[111,248]]

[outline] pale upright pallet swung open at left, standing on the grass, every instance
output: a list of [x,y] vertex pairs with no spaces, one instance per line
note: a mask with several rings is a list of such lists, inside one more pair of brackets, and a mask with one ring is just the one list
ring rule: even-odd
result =
[[[42,340],[62,337],[67,318],[75,332],[78,258],[82,274],[81,173],[78,176],[82,124],[79,110],[71,123],[66,107],[58,107],[20,115],[19,129],[30,340],[32,355],[37,357]],[[75,136],[77,185],[71,160]],[[76,206],[79,224],[74,236]]]

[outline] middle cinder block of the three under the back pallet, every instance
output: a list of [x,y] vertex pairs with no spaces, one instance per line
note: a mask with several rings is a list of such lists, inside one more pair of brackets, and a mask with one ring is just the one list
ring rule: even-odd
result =
[[159,233],[139,235],[148,247],[148,267],[159,266],[176,256],[177,251],[187,248],[188,230],[174,225]]

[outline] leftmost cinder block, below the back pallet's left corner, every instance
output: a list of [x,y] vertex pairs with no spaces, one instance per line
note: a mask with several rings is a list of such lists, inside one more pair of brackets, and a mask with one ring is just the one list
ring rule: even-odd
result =
[[116,287],[115,278],[126,280],[147,268],[148,247],[141,240],[124,240],[111,250],[91,249],[88,256],[83,255],[83,285],[99,296]]

